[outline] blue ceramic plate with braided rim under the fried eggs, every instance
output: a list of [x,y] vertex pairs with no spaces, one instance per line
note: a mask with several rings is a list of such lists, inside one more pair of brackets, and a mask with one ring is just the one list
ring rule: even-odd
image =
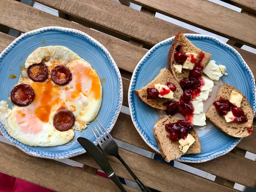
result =
[[[18,82],[21,73],[20,69],[24,66],[26,58],[38,47],[50,45],[61,45],[71,49],[81,58],[88,61],[93,69],[97,71],[102,82],[102,105],[96,120],[99,119],[102,125],[108,131],[111,131],[122,106],[122,79],[120,72],[112,56],[102,44],[76,29],[45,27],[27,32],[15,39],[0,54],[0,100],[7,101],[9,107],[12,108],[13,104],[8,97],[12,88]],[[10,74],[15,74],[17,78],[10,79]],[[75,131],[75,137],[69,143],[55,147],[24,145],[12,138],[2,124],[0,124],[0,130],[9,141],[28,154],[37,157],[63,159],[86,152],[76,141],[78,137],[85,137],[96,143],[91,131],[91,127],[94,124],[96,122],[92,122],[88,125],[88,128],[81,132]]]

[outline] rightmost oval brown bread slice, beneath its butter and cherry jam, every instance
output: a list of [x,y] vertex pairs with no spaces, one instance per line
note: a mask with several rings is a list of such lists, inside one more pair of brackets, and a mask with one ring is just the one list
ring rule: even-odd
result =
[[206,118],[209,119],[212,122],[212,124],[215,125],[215,127],[217,127],[218,129],[220,129],[221,131],[230,136],[247,137],[250,135],[250,133],[248,133],[247,131],[248,128],[253,126],[253,109],[250,106],[250,103],[248,102],[244,94],[229,84],[221,84],[220,87],[218,88],[218,93],[214,101],[219,100],[220,97],[230,99],[230,94],[233,90],[243,96],[241,102],[241,109],[244,111],[244,114],[246,115],[248,121],[244,123],[226,122],[224,116],[220,116],[218,114],[214,105],[211,105],[208,108],[206,112]]

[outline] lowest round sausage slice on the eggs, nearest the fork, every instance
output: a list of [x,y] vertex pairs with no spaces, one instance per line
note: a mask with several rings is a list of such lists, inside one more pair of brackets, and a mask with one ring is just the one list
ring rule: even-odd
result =
[[53,125],[58,131],[67,131],[73,127],[75,116],[66,109],[58,111],[53,118]]

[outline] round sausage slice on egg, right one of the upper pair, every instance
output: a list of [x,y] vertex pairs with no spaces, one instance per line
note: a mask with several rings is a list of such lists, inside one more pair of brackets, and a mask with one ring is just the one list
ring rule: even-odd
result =
[[65,85],[70,81],[71,72],[64,65],[57,65],[51,71],[51,78],[55,84]]

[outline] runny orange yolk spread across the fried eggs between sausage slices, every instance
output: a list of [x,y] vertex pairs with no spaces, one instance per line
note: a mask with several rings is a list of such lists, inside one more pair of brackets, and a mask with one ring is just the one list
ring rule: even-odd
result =
[[[17,110],[16,119],[24,133],[31,133],[32,131],[36,134],[40,132],[43,125],[38,123],[38,119],[41,122],[48,123],[52,112],[67,109],[64,101],[74,102],[74,99],[81,94],[95,100],[101,98],[100,79],[90,65],[75,60],[70,63],[69,69],[72,73],[73,86],[69,84],[65,86],[56,85],[50,78],[48,81],[41,83],[30,80],[26,82],[33,87],[35,100],[30,105]],[[66,98],[61,99],[62,93]],[[70,105],[70,111],[75,112],[76,110],[78,109],[74,105]],[[84,122],[80,122],[80,124],[84,125]]]

